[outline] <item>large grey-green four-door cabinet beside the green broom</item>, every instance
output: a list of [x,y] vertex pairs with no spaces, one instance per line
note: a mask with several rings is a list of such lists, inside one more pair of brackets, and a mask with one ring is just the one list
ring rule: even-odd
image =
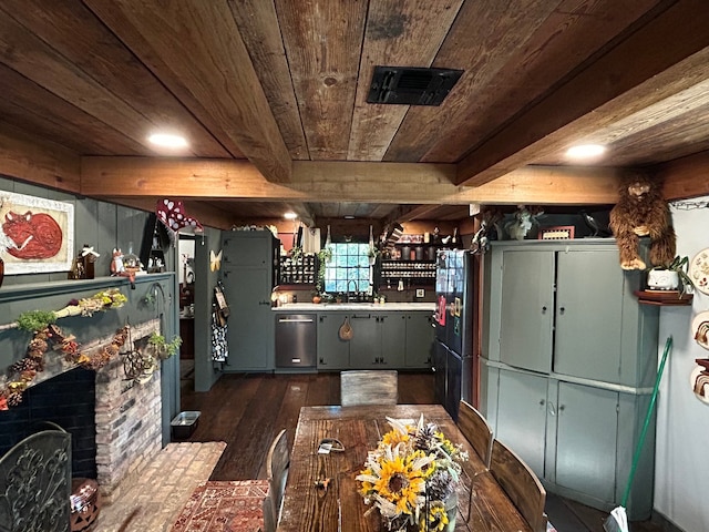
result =
[[[481,409],[551,492],[623,497],[657,368],[658,307],[613,239],[494,243],[485,257]],[[653,509],[654,430],[627,510]]]

